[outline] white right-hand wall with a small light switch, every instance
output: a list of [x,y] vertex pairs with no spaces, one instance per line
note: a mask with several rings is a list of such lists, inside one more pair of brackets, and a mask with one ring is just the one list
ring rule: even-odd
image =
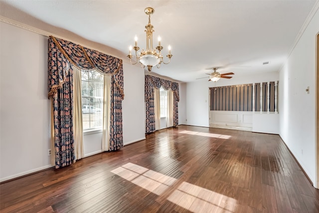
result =
[[[280,70],[280,136],[316,183],[316,36],[319,11]],[[310,94],[306,88],[310,86]]]

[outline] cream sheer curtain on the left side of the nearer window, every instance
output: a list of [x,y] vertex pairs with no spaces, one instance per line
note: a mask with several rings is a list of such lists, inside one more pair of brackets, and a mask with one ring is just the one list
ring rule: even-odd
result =
[[82,71],[73,66],[73,134],[75,145],[75,159],[77,160],[84,157],[81,74]]

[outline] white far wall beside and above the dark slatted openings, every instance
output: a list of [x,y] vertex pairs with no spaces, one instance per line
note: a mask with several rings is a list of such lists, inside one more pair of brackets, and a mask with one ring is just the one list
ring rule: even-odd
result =
[[276,81],[278,72],[255,75],[234,75],[231,79],[220,79],[217,82],[200,79],[186,83],[186,117],[184,124],[209,127],[209,87]]

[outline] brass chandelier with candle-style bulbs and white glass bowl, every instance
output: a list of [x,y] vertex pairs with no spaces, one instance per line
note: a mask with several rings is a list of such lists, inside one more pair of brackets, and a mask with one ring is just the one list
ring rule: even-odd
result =
[[161,54],[161,50],[163,47],[160,45],[160,36],[159,36],[159,45],[154,49],[153,48],[153,32],[154,27],[151,24],[151,15],[154,13],[154,9],[152,7],[145,8],[145,13],[149,15],[149,24],[145,26],[146,30],[146,50],[142,49],[141,52],[138,53],[138,50],[140,47],[138,46],[138,37],[135,36],[135,45],[133,49],[135,50],[135,56],[136,56],[136,62],[132,62],[133,55],[132,52],[132,46],[129,48],[129,54],[128,57],[130,58],[130,62],[132,64],[136,64],[137,62],[142,64],[142,67],[145,66],[148,67],[149,72],[151,72],[153,66],[157,66],[157,68],[160,68],[160,64],[168,64],[170,62],[172,54],[170,54],[170,46],[168,46],[168,62],[163,61],[163,56]]

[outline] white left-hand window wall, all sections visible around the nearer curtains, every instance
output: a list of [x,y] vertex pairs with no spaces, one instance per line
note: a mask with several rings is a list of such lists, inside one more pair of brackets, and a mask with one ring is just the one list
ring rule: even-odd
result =
[[[0,181],[51,167],[48,37],[0,22]],[[110,53],[112,54],[112,52]],[[124,61],[124,145],[145,138],[144,70]],[[102,133],[85,135],[86,156]]]

